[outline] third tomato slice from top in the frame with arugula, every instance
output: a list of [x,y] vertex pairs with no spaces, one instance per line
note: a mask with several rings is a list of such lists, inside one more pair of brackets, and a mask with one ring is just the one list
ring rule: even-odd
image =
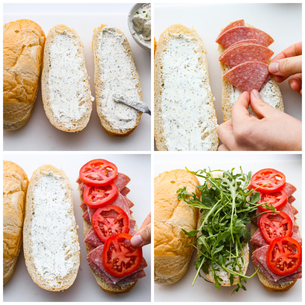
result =
[[291,237],[293,233],[293,224],[291,218],[283,211],[278,211],[272,215],[268,212],[262,215],[258,221],[260,233],[262,233],[265,242],[270,242],[280,236]]

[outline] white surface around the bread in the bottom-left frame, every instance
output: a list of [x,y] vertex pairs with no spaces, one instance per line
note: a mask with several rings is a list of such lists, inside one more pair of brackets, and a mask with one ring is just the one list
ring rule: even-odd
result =
[[[114,163],[118,171],[126,174],[131,178],[128,183],[130,192],[127,197],[135,204],[131,208],[133,217],[137,221],[138,228],[142,225],[144,219],[149,214],[150,205],[150,181],[151,181],[151,162],[150,155],[70,155],[70,154],[10,154],[4,155],[4,160],[13,161],[23,168],[26,172],[28,179],[34,170],[44,164],[52,164],[57,168],[62,168],[68,176],[72,185],[73,202],[74,202],[74,215],[76,224],[79,229],[78,236],[81,246],[81,264],[78,270],[77,277],[74,283],[63,292],[48,291],[40,288],[33,282],[24,261],[23,244],[21,245],[20,254],[17,260],[15,271],[12,277],[3,286],[3,301],[8,302],[150,302],[151,291],[151,246],[143,247],[143,257],[145,258],[148,267],[144,269],[146,276],[139,279],[135,287],[128,293],[122,294],[109,294],[104,292],[97,284],[94,275],[92,274],[87,258],[86,245],[84,241],[83,217],[80,208],[79,191],[77,191],[78,184],[75,182],[81,167],[93,159],[106,159]],[[137,166],[133,166],[137,164]],[[145,173],[145,174],[143,174]]]

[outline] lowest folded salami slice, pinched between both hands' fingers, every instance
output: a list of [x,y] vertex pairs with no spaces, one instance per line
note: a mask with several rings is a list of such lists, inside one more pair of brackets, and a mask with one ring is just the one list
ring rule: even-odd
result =
[[260,90],[268,74],[267,64],[250,61],[230,69],[223,78],[240,91],[251,93],[253,89]]

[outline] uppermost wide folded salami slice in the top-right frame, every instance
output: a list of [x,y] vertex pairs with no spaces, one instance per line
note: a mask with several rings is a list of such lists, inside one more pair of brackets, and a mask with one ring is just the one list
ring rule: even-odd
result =
[[246,26],[233,27],[225,31],[216,39],[216,42],[225,48],[228,48],[230,45],[233,45],[233,43],[246,39],[256,39],[256,43],[258,45],[263,45],[264,47],[268,47],[274,42],[273,38],[266,32],[255,27]]

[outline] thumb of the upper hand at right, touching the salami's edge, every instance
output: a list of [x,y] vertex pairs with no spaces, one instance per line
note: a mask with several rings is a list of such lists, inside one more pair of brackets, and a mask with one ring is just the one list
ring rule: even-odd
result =
[[269,64],[269,72],[278,76],[302,73],[302,55],[287,57]]

